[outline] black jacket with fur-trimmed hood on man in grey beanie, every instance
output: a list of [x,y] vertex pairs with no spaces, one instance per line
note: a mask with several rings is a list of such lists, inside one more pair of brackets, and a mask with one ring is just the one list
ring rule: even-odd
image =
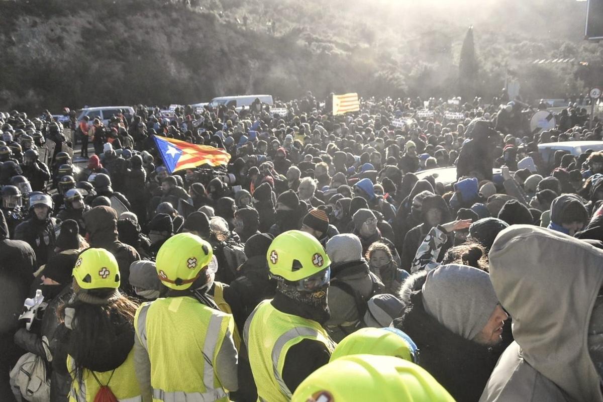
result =
[[400,292],[405,304],[394,320],[417,344],[419,365],[425,368],[459,402],[477,402],[496,360],[491,349],[448,330],[423,307],[421,287],[427,272],[409,277]]

